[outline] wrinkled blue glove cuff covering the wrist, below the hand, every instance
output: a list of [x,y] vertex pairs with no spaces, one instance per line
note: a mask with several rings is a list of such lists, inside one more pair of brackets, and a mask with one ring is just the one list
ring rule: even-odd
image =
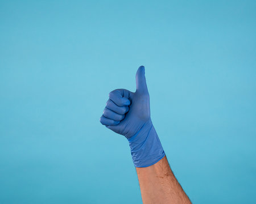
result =
[[146,122],[128,141],[135,167],[149,167],[165,156],[151,120]]

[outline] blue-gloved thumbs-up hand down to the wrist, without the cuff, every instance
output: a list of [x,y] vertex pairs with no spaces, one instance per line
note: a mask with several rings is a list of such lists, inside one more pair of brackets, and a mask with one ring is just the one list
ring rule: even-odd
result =
[[102,125],[124,135],[127,139],[150,122],[150,98],[144,66],[140,66],[136,73],[136,87],[135,92],[125,89],[110,92],[106,108],[100,118]]

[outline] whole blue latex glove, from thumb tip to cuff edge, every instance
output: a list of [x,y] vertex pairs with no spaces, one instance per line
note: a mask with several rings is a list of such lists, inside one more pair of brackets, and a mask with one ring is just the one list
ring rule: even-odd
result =
[[150,97],[144,74],[144,66],[140,66],[135,93],[125,89],[110,92],[100,118],[102,125],[128,139],[135,167],[148,167],[165,155],[150,118]]

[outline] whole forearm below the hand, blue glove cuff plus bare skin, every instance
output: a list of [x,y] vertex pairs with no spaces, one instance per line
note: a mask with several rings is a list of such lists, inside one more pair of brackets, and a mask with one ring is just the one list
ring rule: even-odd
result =
[[151,120],[128,140],[143,203],[191,203],[171,171]]

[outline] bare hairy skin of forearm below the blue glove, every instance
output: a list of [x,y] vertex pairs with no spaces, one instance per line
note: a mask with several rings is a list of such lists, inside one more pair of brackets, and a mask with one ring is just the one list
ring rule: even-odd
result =
[[191,203],[172,173],[166,156],[150,167],[136,170],[144,204]]

